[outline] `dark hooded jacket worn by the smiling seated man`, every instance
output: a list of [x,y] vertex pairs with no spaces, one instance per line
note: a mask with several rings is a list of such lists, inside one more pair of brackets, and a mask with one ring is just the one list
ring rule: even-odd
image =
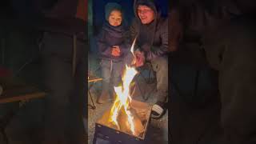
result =
[[[143,25],[137,14],[138,5],[149,6],[156,15],[154,22]],[[135,19],[130,26],[130,40],[133,41],[138,35],[137,46],[145,52],[146,59],[162,57],[168,52],[168,18],[162,18],[160,10],[153,0],[134,1]]]

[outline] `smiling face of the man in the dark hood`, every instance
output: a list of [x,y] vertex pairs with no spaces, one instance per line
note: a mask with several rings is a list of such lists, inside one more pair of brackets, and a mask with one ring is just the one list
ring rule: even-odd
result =
[[137,8],[137,14],[142,24],[149,24],[154,21],[154,10],[149,6],[139,5]]

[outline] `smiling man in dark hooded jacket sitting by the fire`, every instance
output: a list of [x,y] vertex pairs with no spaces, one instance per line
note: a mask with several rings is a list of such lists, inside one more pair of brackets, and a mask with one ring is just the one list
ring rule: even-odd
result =
[[153,118],[161,118],[168,95],[168,20],[162,18],[154,1],[134,1],[135,19],[130,27],[131,41],[137,37],[135,66],[150,62],[157,77],[157,102]]

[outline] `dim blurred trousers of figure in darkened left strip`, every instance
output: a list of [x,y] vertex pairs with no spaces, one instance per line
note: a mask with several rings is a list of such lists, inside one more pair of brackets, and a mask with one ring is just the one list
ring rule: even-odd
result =
[[63,34],[44,34],[42,62],[45,74],[45,143],[82,144],[85,141],[82,105],[86,101],[85,43],[77,42],[76,69],[72,74],[73,39]]

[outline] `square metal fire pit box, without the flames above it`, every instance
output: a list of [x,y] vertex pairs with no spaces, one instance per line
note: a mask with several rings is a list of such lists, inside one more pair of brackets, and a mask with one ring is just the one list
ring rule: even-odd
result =
[[131,132],[127,117],[122,110],[117,118],[120,124],[119,127],[108,122],[110,110],[106,110],[102,118],[99,118],[95,124],[94,144],[144,143],[146,130],[150,122],[151,106],[149,104],[131,100],[130,111],[134,115],[134,134]]

